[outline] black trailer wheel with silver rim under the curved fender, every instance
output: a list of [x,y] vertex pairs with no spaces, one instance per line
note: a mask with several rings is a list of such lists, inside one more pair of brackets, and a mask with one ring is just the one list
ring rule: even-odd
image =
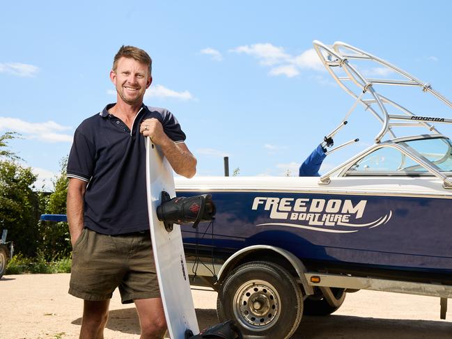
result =
[[237,267],[218,293],[219,321],[234,320],[244,338],[290,338],[302,314],[302,291],[295,278],[271,262]]

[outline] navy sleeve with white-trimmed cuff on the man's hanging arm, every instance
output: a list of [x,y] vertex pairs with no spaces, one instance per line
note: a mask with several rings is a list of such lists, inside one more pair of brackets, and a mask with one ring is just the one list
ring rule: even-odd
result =
[[93,176],[95,146],[80,129],[79,127],[75,130],[74,142],[69,153],[68,178],[89,182]]

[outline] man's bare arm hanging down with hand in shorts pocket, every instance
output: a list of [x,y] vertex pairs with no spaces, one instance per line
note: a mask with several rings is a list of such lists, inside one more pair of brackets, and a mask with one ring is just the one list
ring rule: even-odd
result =
[[88,183],[77,178],[69,178],[68,200],[66,213],[68,214],[70,242],[74,247],[84,227],[84,195]]

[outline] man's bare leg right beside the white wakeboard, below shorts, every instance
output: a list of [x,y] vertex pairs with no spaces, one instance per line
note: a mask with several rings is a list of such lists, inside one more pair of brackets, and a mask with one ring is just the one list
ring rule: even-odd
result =
[[166,320],[161,298],[135,299],[140,318],[141,339],[161,339],[166,332]]

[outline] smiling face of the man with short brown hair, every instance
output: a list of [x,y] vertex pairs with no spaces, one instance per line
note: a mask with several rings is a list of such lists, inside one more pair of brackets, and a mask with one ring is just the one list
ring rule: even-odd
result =
[[153,80],[148,65],[124,57],[118,60],[116,71],[110,72],[110,79],[116,86],[118,100],[131,105],[143,102],[144,93]]

